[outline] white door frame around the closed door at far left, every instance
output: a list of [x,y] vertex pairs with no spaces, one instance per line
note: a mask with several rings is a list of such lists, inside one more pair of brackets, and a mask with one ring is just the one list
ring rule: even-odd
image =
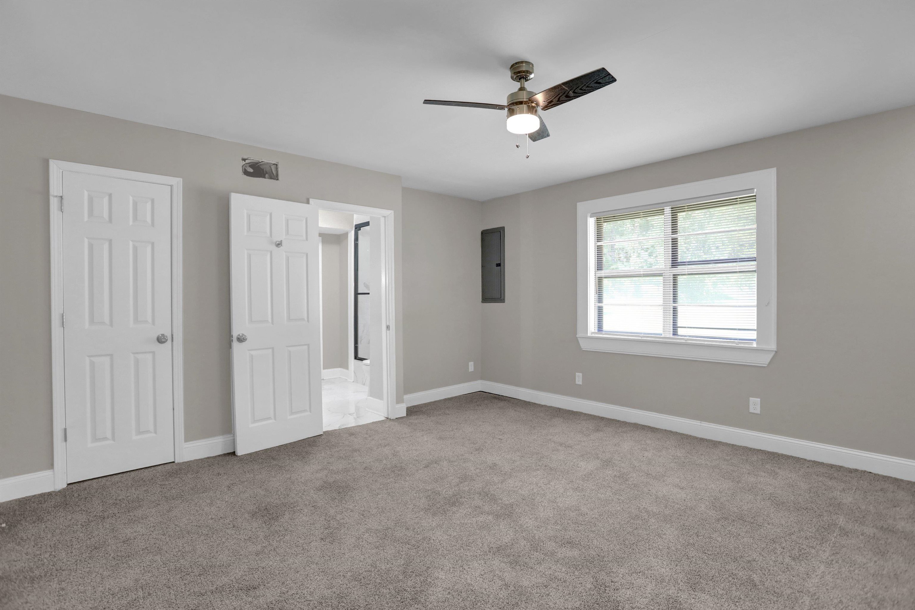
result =
[[87,166],[70,161],[48,160],[50,192],[51,252],[51,405],[54,446],[54,489],[67,487],[67,444],[64,428],[67,417],[64,405],[63,352],[63,173],[79,172],[151,182],[171,187],[171,290],[172,290],[172,403],[175,409],[175,461],[184,461],[184,335],[181,311],[181,178],[156,176],[111,167]]

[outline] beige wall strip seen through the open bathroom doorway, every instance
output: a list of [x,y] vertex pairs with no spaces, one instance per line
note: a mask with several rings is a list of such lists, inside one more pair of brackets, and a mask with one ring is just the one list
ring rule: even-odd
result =
[[323,369],[350,368],[348,243],[346,233],[321,235]]

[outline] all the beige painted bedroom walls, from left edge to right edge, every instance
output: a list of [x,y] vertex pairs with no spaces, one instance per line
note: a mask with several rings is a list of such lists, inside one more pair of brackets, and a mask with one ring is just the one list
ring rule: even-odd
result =
[[[246,155],[278,160],[281,179],[242,177]],[[398,401],[482,372],[533,390],[915,457],[915,107],[480,204],[402,189],[396,176],[0,96],[0,477],[51,467],[48,158],[184,179],[188,441],[231,433],[234,191],[395,211]],[[770,366],[578,347],[578,201],[773,166],[779,351]],[[482,305],[479,230],[503,225],[506,303]],[[762,399],[761,415],[748,413],[749,396]]]

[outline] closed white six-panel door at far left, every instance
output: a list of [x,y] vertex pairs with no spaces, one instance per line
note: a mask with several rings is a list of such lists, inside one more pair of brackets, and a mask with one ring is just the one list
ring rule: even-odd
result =
[[67,481],[171,462],[171,188],[66,171],[63,200]]

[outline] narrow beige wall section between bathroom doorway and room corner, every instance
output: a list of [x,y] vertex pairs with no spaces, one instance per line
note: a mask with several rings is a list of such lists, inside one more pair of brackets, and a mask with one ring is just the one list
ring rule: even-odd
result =
[[[479,201],[404,188],[404,391],[479,380]],[[468,362],[474,362],[468,372]]]

